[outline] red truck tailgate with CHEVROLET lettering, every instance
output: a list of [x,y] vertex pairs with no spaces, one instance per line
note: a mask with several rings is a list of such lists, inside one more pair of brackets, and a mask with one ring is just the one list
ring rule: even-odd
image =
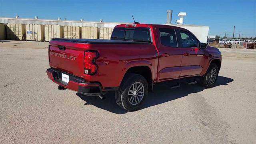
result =
[[84,45],[51,40],[49,45],[50,67],[83,78]]

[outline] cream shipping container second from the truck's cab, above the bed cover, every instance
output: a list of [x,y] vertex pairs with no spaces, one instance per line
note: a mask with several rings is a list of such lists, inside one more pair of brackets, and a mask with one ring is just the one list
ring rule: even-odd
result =
[[82,38],[99,39],[100,29],[98,27],[83,26]]

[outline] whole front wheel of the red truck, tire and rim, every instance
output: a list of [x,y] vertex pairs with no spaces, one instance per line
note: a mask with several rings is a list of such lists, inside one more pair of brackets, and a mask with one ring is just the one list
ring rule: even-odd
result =
[[218,79],[219,69],[216,64],[210,64],[206,74],[200,78],[200,84],[206,88],[214,86]]

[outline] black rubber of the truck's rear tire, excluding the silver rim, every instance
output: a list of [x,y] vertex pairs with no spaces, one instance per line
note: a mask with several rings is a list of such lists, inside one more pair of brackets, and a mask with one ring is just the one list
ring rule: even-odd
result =
[[[129,89],[132,88],[133,84],[136,82],[139,82],[144,86],[144,96],[142,97],[142,100],[140,100],[138,104],[133,105],[128,100],[128,92],[129,92]],[[132,74],[132,73],[126,74],[126,76],[124,76],[124,79],[122,80],[120,87],[116,91],[115,95],[116,95],[116,103],[121,108],[124,108],[125,110],[130,112],[138,110],[148,96],[148,82],[142,75]]]

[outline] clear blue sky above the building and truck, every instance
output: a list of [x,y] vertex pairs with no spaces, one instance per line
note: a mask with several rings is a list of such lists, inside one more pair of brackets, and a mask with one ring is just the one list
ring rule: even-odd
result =
[[165,24],[166,10],[173,10],[172,24],[186,12],[184,24],[210,26],[210,35],[256,37],[256,0],[0,0],[0,17]]

